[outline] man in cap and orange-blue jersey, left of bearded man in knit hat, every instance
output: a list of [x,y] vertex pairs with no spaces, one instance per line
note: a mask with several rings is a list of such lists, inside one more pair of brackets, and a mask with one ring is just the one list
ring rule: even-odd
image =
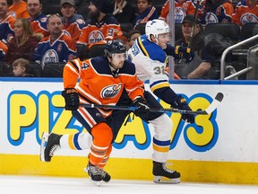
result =
[[61,13],[63,14],[63,31],[70,36],[74,42],[79,40],[82,28],[85,25],[84,18],[81,14],[76,13],[74,0],[61,0]]

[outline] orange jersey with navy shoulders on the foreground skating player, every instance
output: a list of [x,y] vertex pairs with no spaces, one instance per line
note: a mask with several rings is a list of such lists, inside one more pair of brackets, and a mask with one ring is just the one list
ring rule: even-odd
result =
[[[143,83],[136,77],[133,63],[127,60],[119,69],[118,77],[114,77],[107,57],[93,57],[84,61],[74,59],[64,66],[64,88],[74,88],[79,77],[81,81],[76,89],[80,93],[81,103],[116,105],[124,88],[132,101],[137,96],[143,96]],[[106,118],[112,110],[99,111]]]

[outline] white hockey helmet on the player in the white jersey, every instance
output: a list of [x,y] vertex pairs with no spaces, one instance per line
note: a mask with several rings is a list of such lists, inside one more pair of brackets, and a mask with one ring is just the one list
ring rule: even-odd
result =
[[150,34],[153,34],[154,37],[158,39],[159,34],[168,32],[169,26],[163,20],[155,19],[146,23],[145,33],[148,40],[150,40]]

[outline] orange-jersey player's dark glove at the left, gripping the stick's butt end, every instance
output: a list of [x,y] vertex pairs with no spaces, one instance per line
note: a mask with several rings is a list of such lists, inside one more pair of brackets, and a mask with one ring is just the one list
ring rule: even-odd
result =
[[79,95],[75,88],[66,88],[62,92],[65,101],[65,110],[77,110],[79,108]]

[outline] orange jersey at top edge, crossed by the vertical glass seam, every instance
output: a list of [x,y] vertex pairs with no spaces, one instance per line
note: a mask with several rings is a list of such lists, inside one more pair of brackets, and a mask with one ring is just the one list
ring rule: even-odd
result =
[[[164,4],[159,15],[159,19],[168,22],[168,12],[169,12],[169,0]],[[175,22],[182,23],[186,14],[194,14],[195,5],[192,0],[176,1],[175,0]],[[201,9],[198,10],[198,15],[201,15]]]

